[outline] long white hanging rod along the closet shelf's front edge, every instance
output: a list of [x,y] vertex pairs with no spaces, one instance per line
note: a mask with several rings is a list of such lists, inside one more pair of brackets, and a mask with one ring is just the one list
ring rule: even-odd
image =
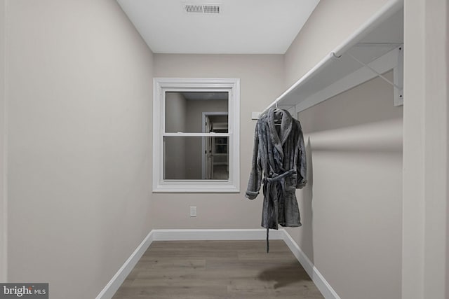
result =
[[335,50],[326,55],[318,64],[315,65],[315,67],[307,71],[307,73],[304,74],[304,76],[302,76],[300,80],[298,80],[295,84],[293,84],[290,88],[288,88],[288,90],[283,92],[283,94],[280,95],[278,98],[276,98],[274,102],[272,102],[272,104],[269,104],[269,106],[265,108],[264,111],[260,113],[260,115],[268,111],[270,107],[281,102],[282,99],[286,97],[286,95],[295,90],[295,88],[297,88],[299,85],[307,82],[312,74],[321,71],[321,69],[326,67],[326,65],[329,62],[337,59],[337,57],[340,57],[342,54],[346,53],[346,51],[349,50],[349,48],[358,43],[358,41],[361,41],[361,39],[363,39],[363,37],[365,37],[371,31],[373,31],[375,27],[382,24],[382,22],[391,17],[391,15],[394,15],[394,13],[398,12],[402,7],[403,7],[403,0],[388,1],[387,4],[382,6],[382,8],[380,8],[380,10],[377,11],[377,13],[375,13],[371,18],[366,20],[366,22],[364,22],[363,25],[356,30],[356,32],[351,34],[351,36],[349,36],[343,43],[341,43],[340,46],[337,46]]

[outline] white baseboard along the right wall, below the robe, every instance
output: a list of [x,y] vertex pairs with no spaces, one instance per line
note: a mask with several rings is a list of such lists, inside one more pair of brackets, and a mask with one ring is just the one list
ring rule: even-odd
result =
[[295,240],[288,234],[286,230],[283,230],[283,241],[286,242],[288,248],[290,251],[292,251],[293,255],[297,260],[300,262],[302,267],[304,267],[304,270],[306,270],[307,274],[309,274],[309,277],[312,281],[314,281],[314,284],[319,289],[321,294],[326,299],[340,299],[340,296],[337,294],[337,292],[334,291],[332,286],[326,281],[326,279],[323,277],[323,275],[319,272],[319,270],[314,266],[313,263],[307,258],[304,251],[300,249],[300,246],[295,242]]

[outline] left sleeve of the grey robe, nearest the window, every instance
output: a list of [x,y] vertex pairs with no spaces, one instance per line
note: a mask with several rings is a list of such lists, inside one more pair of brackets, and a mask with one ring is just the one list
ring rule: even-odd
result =
[[250,179],[248,180],[248,188],[246,188],[245,197],[254,200],[259,195],[260,185],[262,183],[262,162],[259,148],[259,137],[261,130],[260,120],[255,125],[253,160],[251,164]]

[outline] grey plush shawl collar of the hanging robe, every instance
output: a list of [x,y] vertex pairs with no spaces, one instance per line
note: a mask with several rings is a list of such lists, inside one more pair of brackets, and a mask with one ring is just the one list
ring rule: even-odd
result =
[[[278,149],[279,153],[283,153],[282,146],[286,143],[288,135],[292,130],[293,118],[288,111],[275,108],[269,109],[267,116],[269,132],[272,137],[273,144]],[[279,116],[282,118],[281,128],[278,134],[274,120],[279,119]]]

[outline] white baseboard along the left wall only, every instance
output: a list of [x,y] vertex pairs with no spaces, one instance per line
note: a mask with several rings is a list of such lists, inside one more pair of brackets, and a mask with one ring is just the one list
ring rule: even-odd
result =
[[114,274],[112,279],[107,283],[105,288],[98,294],[96,299],[110,299],[116,291],[119,289],[123,281],[125,281],[128,274],[130,274],[133,267],[138,263],[140,258],[143,256],[143,253],[147,251],[150,244],[153,242],[153,230],[149,232],[147,237],[143,239],[138,248],[130,255],[130,257],[123,263],[120,267],[119,271]]

